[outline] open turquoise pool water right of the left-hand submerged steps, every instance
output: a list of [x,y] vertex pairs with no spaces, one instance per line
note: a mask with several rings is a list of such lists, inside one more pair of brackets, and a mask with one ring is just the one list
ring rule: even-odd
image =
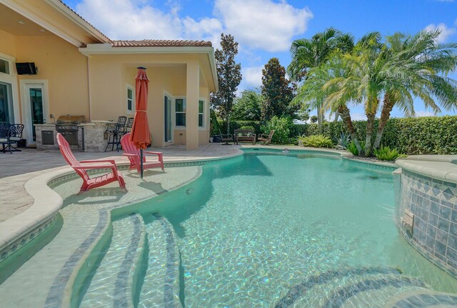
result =
[[[398,234],[391,171],[339,157],[246,153],[134,208],[173,225],[186,307],[340,307],[324,299],[376,275],[386,288],[359,294],[358,307],[421,287],[457,292]],[[400,272],[425,285],[398,286]]]

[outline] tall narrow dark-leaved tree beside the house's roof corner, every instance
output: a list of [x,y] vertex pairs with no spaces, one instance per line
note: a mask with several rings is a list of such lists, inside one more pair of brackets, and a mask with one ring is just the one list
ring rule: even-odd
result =
[[219,91],[211,93],[211,106],[226,121],[226,129],[229,132],[233,100],[236,97],[236,89],[241,82],[241,64],[235,62],[235,56],[238,54],[238,43],[233,39],[233,36],[221,34],[221,48],[214,52]]

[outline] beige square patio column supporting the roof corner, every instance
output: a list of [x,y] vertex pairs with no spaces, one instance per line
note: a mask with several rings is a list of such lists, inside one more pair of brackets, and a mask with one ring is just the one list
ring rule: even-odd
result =
[[186,78],[186,149],[199,148],[199,91],[200,65],[197,60],[187,62]]

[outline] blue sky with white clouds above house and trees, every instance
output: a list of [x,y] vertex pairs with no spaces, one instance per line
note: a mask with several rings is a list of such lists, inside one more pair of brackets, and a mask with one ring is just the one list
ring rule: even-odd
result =
[[[261,69],[276,57],[288,66],[294,39],[333,26],[359,38],[441,29],[440,41],[457,41],[457,0],[64,0],[111,39],[196,39],[219,47],[221,32],[239,43],[243,81],[238,91],[261,85]],[[453,74],[457,79],[457,74]],[[432,115],[416,100],[418,116]],[[351,108],[354,119],[363,109]],[[393,116],[402,116],[393,110]],[[456,110],[442,114],[457,114]]]

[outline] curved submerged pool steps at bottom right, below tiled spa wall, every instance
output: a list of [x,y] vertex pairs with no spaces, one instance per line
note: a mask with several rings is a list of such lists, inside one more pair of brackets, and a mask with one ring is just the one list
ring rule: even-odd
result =
[[457,307],[457,296],[428,290],[421,280],[393,267],[355,267],[308,277],[273,307]]

